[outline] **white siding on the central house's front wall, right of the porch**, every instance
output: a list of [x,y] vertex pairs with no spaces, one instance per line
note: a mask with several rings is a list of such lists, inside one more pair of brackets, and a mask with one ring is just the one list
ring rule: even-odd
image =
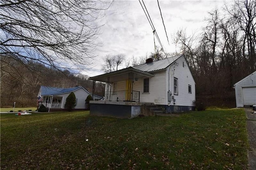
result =
[[[166,71],[156,72],[149,78],[149,93],[143,93],[143,78],[134,81],[133,90],[140,91],[140,102],[166,104]],[[146,78],[146,77],[145,77]]]

